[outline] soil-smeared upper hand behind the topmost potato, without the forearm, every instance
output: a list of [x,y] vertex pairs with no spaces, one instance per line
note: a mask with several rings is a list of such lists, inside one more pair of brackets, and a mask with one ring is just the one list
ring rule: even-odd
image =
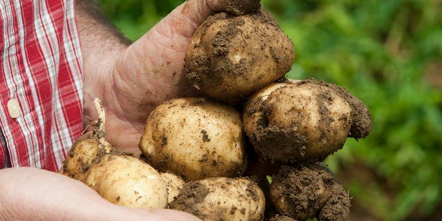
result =
[[[103,99],[106,139],[111,144],[139,154],[137,144],[148,113],[167,99],[197,94],[183,73],[186,47],[206,17],[231,8],[232,2],[236,4],[242,0],[185,1],[108,62],[110,65],[102,70],[109,73],[101,80],[104,90],[91,94]],[[92,104],[88,101],[91,99],[93,97],[85,99],[88,116],[94,116]]]

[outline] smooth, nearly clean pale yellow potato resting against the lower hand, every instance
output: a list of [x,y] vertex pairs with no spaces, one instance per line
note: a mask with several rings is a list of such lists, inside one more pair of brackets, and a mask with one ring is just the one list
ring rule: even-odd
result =
[[128,155],[105,155],[89,169],[84,183],[114,204],[137,209],[167,205],[167,188],[160,173]]

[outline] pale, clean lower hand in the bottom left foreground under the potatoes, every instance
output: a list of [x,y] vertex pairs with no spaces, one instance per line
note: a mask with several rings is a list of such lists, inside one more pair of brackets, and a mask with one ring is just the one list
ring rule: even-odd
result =
[[198,220],[188,213],[129,209],[83,183],[41,169],[0,170],[0,220]]

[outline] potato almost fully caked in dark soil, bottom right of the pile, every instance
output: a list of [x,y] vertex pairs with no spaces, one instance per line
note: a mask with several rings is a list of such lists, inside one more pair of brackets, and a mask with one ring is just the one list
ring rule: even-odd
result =
[[348,220],[350,203],[347,193],[322,164],[284,165],[272,178],[271,202],[282,215],[303,221],[327,213],[322,217]]

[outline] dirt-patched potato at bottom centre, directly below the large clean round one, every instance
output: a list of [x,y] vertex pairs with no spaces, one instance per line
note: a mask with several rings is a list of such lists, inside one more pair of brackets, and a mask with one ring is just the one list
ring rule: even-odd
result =
[[262,220],[264,193],[245,179],[212,177],[188,182],[170,207],[202,220]]

